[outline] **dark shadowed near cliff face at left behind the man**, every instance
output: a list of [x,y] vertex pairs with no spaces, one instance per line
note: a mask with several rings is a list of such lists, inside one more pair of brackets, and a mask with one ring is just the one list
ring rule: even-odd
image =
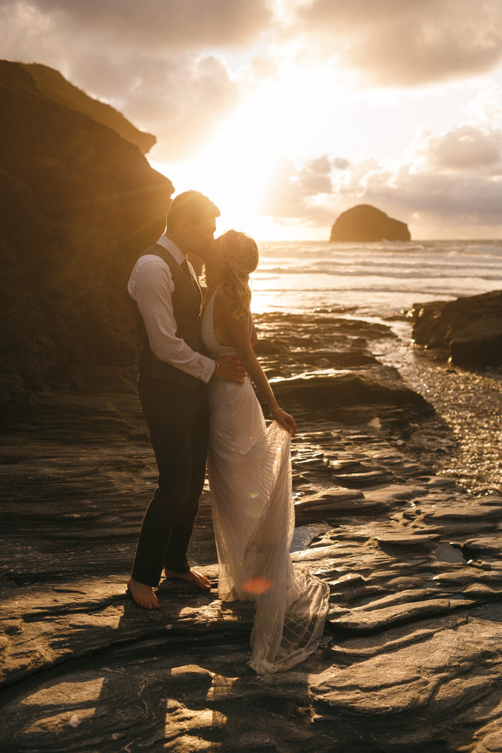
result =
[[[132,362],[126,281],[173,191],[138,147],[0,62],[0,410]],[[105,377],[103,377],[105,378]]]

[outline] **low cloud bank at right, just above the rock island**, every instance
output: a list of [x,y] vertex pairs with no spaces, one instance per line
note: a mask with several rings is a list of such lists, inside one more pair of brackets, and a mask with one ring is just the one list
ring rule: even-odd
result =
[[283,222],[329,226],[340,212],[364,203],[409,223],[418,238],[502,233],[502,130],[497,122],[464,123],[440,134],[421,131],[406,161],[391,166],[365,160],[337,172],[339,159],[324,155],[300,167],[283,161],[272,186],[275,200],[268,197],[263,214],[273,210]]

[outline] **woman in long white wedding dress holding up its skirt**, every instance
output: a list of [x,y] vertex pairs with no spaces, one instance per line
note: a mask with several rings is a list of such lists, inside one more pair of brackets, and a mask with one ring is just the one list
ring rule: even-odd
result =
[[[291,437],[297,431],[275,401],[254,355],[249,275],[258,249],[245,233],[229,230],[203,257],[207,292],[202,340],[211,358],[238,355],[243,385],[211,380],[208,477],[218,549],[222,601],[256,604],[248,664],[259,675],[280,672],[315,651],[324,630],[329,588],[305,566],[293,566]],[[266,426],[251,381],[274,421]]]

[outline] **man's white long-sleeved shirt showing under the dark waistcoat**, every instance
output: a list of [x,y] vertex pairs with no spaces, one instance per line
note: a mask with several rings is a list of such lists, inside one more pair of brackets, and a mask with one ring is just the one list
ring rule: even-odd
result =
[[[165,235],[157,241],[181,265],[186,257]],[[188,262],[190,273],[196,275]],[[175,289],[169,266],[160,256],[146,254],[136,261],[127,292],[138,304],[145,322],[150,347],[160,361],[175,366],[193,377],[208,382],[216,368],[212,358],[192,350],[184,340],[176,337],[178,325],[172,310],[172,292]]]

